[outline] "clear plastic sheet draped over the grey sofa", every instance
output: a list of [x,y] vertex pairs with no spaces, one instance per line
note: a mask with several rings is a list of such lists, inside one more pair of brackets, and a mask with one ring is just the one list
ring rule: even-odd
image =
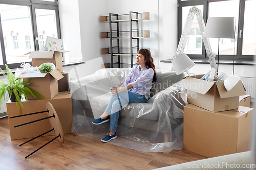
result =
[[[117,85],[131,68],[105,68],[69,83],[72,94],[72,132],[100,140],[110,130],[110,122],[91,122],[105,110]],[[186,91],[179,86],[185,75],[157,69],[157,81],[146,103],[129,103],[119,112],[117,139],[110,143],[139,151],[165,152],[183,148],[183,106]]]

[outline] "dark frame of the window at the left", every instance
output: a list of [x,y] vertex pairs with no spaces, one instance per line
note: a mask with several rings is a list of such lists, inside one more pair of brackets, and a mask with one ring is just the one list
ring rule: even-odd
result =
[[[33,32],[33,38],[34,39],[34,46],[35,50],[39,50],[39,44],[36,37],[37,35],[37,26],[36,26],[36,15],[35,15],[35,9],[46,9],[46,10],[55,10],[56,14],[56,25],[57,25],[57,37],[61,39],[61,33],[60,33],[60,21],[59,21],[59,9],[58,9],[58,0],[54,0],[54,2],[47,2],[47,1],[41,1],[41,0],[16,0],[16,1],[10,1],[10,0],[1,0],[0,4],[6,4],[6,5],[18,5],[18,6],[27,6],[30,7],[30,17],[31,17],[31,26],[32,26],[32,32]],[[0,43],[1,43],[1,49],[2,49],[2,57],[3,57],[3,65],[0,65],[1,69],[6,69],[5,64],[7,64],[6,60],[6,53],[5,53],[5,44],[4,44],[4,35],[2,30],[2,21],[1,21],[1,14],[0,14]],[[31,44],[30,44],[31,45]],[[28,62],[32,65],[32,62]],[[22,63],[11,63],[8,64],[9,68],[17,68],[20,67],[20,64]]]

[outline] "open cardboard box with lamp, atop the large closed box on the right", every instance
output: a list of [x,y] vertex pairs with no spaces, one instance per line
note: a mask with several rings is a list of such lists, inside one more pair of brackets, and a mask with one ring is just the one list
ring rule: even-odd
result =
[[183,88],[187,89],[187,102],[212,112],[237,109],[239,96],[245,95],[245,88],[239,81],[230,91],[227,91],[223,82],[214,83],[186,77],[182,81]]

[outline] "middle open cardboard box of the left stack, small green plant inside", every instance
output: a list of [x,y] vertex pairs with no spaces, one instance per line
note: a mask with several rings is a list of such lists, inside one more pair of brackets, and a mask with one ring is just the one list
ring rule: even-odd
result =
[[[27,87],[42,94],[45,99],[52,99],[58,94],[58,80],[63,78],[58,70],[52,72],[38,72],[38,73],[26,73],[20,75],[23,81],[29,81]],[[32,95],[28,95],[28,99],[41,99],[39,97],[34,98]]]

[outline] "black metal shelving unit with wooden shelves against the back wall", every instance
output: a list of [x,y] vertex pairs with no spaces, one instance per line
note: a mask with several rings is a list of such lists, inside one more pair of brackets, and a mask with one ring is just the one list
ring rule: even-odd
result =
[[[119,16],[129,15],[129,19],[119,19]],[[133,18],[132,16],[136,15],[136,18]],[[141,18],[139,18],[139,15],[142,15]],[[114,20],[112,19],[114,17]],[[101,48],[101,54],[102,55],[110,55],[111,56],[111,67],[114,67],[113,62],[113,56],[118,56],[118,68],[120,68],[120,56],[130,56],[131,57],[131,67],[133,67],[133,57],[137,55],[133,54],[133,50],[136,49],[139,51],[139,38],[150,38],[150,30],[139,30],[139,20],[149,20],[150,19],[150,13],[149,12],[132,12],[130,11],[129,14],[113,14],[110,13],[109,16],[100,16],[100,22],[108,22],[110,25],[110,31],[109,32],[101,32],[100,38],[101,39],[110,39],[110,47],[108,48]],[[119,22],[130,22],[130,28],[129,31],[119,31]],[[136,29],[132,29],[132,23],[136,22]],[[112,29],[112,24],[116,24],[116,30]],[[122,33],[130,33],[130,36],[120,36]],[[136,34],[133,36],[133,33]],[[113,36],[113,34],[116,34]],[[130,39],[130,47],[120,47],[120,40],[121,39]],[[133,39],[137,40],[137,45],[133,46]],[[117,46],[113,46],[113,40],[117,41]],[[130,53],[122,53],[124,49],[130,49]],[[149,49],[149,48],[148,48]],[[136,51],[136,52],[137,52]],[[115,64],[116,64],[115,63]]]

